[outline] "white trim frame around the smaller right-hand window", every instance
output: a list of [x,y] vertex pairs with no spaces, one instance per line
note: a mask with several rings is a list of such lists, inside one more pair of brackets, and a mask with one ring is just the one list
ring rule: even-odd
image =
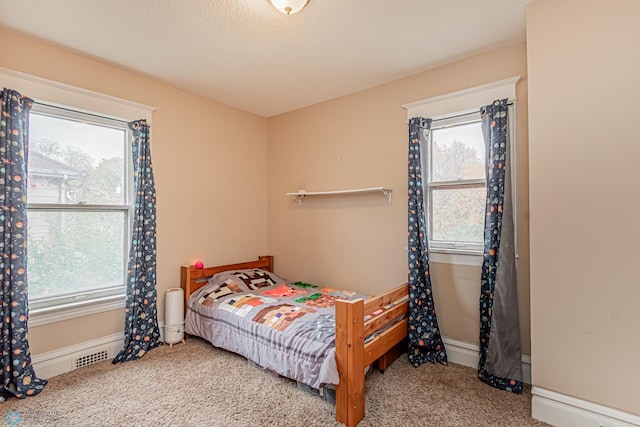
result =
[[[510,160],[513,167],[511,171],[512,197],[513,197],[513,215],[514,223],[516,221],[516,83],[520,80],[520,76],[499,80],[486,85],[476,86],[461,91],[436,96],[433,98],[423,99],[402,105],[407,110],[407,120],[413,117],[425,117],[433,120],[433,126],[442,124],[450,124],[455,121],[457,116],[464,116],[477,112],[480,107],[488,105],[496,99],[507,98],[512,105],[509,107],[509,141],[510,141]],[[447,123],[449,121],[449,123]],[[425,184],[427,180],[425,179]],[[486,185],[486,184],[485,184]],[[426,187],[425,187],[426,188]],[[425,194],[429,189],[426,188]],[[427,220],[430,224],[431,208],[425,204],[427,210]],[[431,236],[429,236],[429,239]],[[517,233],[516,233],[517,247]],[[456,243],[431,242],[429,241],[429,254],[432,262],[443,262],[449,264],[463,265],[482,265],[482,245],[456,245]],[[517,257],[517,254],[516,254]]]

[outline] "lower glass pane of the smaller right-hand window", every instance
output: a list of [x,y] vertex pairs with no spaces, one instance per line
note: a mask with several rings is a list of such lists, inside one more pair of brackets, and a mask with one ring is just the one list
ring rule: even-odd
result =
[[484,188],[432,189],[432,240],[446,242],[484,241]]

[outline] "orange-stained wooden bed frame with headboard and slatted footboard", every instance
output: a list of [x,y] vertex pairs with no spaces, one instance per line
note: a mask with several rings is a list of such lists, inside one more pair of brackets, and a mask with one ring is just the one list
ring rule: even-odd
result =
[[[189,295],[204,286],[212,275],[247,268],[260,268],[273,273],[273,256],[200,269],[194,265],[183,265],[180,282],[185,306]],[[374,314],[383,307],[387,309]],[[406,315],[408,307],[406,283],[367,300],[336,301],[336,363],[340,377],[340,383],[336,386],[336,419],[342,424],[354,427],[364,418],[365,368],[374,365],[384,372],[405,352],[408,320],[406,316],[395,323],[394,320]],[[364,342],[365,337],[382,328],[385,329],[375,338]]]

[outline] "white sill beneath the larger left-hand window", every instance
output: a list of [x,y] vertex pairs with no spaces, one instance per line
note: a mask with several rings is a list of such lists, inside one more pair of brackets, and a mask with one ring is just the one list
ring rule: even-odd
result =
[[123,309],[125,306],[125,296],[118,295],[94,299],[92,301],[83,301],[81,303],[29,310],[29,327],[33,328],[50,323],[62,322],[63,320],[103,313],[105,311]]

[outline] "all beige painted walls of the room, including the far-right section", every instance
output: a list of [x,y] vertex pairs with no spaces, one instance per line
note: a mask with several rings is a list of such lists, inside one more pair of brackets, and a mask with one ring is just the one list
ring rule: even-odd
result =
[[[158,107],[159,295],[177,285],[182,263],[233,262],[267,249],[290,278],[365,293],[404,282],[400,105],[521,75],[518,280],[533,384],[640,415],[638,22],[637,0],[539,0],[527,8],[526,46],[268,121],[4,31],[0,66]],[[359,195],[298,206],[284,194],[370,186],[393,188],[392,203]],[[443,334],[476,342],[479,268],[433,264],[432,275]],[[113,311],[32,328],[32,353],[117,333],[122,323]]]

